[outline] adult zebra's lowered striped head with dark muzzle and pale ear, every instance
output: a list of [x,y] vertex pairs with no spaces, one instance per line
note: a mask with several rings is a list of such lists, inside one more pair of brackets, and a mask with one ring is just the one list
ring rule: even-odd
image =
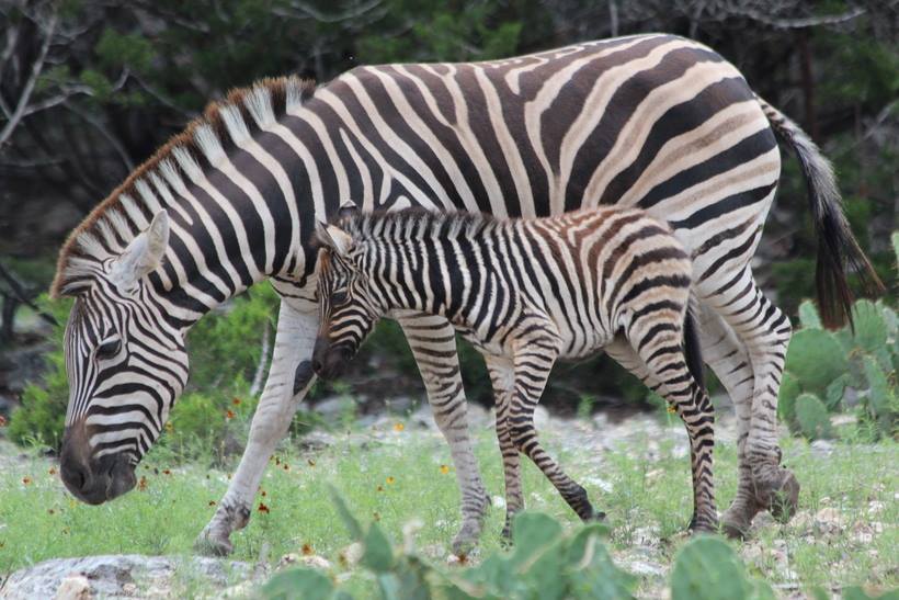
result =
[[81,261],[84,275],[66,326],[69,406],[60,474],[99,505],[135,485],[135,467],[159,437],[187,381],[183,333],[166,329],[147,275],[168,247],[160,212],[117,256]]

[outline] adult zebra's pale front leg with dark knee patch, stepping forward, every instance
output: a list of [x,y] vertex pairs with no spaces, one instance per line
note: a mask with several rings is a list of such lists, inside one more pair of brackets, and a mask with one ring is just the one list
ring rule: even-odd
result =
[[272,365],[253,415],[247,450],[215,516],[194,543],[203,554],[230,554],[230,534],[247,527],[269,459],[315,382],[309,359],[318,332],[318,307],[312,303],[292,302],[295,304],[281,301]]

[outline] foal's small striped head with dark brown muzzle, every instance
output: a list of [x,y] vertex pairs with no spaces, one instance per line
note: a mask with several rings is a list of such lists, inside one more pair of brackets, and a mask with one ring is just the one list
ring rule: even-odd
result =
[[318,303],[320,325],[312,370],[322,378],[338,376],[383,316],[361,270],[363,252],[343,229],[319,225]]

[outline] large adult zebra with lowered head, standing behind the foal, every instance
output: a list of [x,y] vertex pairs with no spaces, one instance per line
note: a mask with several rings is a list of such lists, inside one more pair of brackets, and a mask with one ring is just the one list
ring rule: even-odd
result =
[[[724,522],[742,531],[759,510],[777,508],[778,491],[794,503],[798,493],[775,439],[789,322],[749,267],[779,177],[774,131],[810,186],[823,234],[820,302],[835,320],[849,303],[844,258],[869,267],[827,161],[695,42],[638,35],[508,60],[360,67],[318,89],[280,79],[234,92],[132,173],[60,251],[52,291],[77,298],[62,478],[95,503],[130,489],[186,380],[184,335],[213,306],[271,278],[283,299],[269,378],[240,466],[200,537],[228,552],[312,382],[316,220],[345,199],[364,210],[497,216],[617,202],[670,220],[695,254],[706,362],[740,422],[739,488]],[[480,529],[485,495],[453,330],[425,317],[400,324],[451,444],[464,541]]]

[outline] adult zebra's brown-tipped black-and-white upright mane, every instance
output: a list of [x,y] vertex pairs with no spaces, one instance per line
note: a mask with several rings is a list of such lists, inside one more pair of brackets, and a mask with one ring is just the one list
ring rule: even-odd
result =
[[78,295],[91,284],[102,261],[121,253],[157,212],[178,210],[175,197],[190,182],[202,179],[254,132],[298,110],[315,89],[315,81],[297,76],[265,78],[210,102],[69,234],[59,250],[50,297]]

